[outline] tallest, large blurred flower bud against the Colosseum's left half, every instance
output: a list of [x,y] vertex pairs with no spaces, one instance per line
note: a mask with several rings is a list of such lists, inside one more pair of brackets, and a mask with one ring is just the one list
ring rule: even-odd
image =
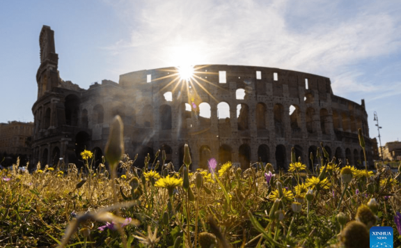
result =
[[123,157],[124,153],[123,130],[124,130],[124,125],[120,116],[114,117],[110,125],[109,139],[107,140],[106,148],[104,148],[106,158],[107,160],[109,160],[111,167],[115,166],[118,163],[118,161],[120,161],[121,157]]

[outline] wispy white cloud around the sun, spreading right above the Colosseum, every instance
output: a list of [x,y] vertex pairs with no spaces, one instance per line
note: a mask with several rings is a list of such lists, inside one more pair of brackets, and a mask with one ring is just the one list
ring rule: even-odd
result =
[[111,2],[131,35],[107,49],[120,57],[118,68],[125,72],[175,65],[187,56],[193,64],[261,65],[324,75],[343,94],[377,92],[382,88],[361,81],[365,72],[355,65],[400,53],[394,3],[363,1],[349,12],[341,1]]

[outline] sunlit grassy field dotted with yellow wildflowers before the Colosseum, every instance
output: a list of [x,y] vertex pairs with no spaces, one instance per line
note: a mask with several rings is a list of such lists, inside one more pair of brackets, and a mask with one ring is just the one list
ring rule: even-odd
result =
[[399,171],[331,162],[309,171],[294,154],[286,172],[230,162],[189,171],[189,149],[175,171],[120,160],[112,133],[109,171],[92,169],[85,151],[82,169],[0,172],[1,247],[369,247],[370,226],[391,226],[401,247]]

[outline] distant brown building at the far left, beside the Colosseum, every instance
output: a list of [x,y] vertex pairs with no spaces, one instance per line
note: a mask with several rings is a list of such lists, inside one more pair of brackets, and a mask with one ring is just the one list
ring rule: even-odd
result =
[[33,123],[9,121],[0,123],[0,152],[30,157]]

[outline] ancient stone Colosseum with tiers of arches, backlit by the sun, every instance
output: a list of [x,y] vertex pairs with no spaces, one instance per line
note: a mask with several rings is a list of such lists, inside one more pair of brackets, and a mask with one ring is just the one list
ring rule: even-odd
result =
[[[322,141],[329,155],[361,165],[363,150],[357,130],[367,143],[372,164],[365,102],[333,95],[327,77],[241,65],[196,65],[183,77],[180,68],[141,70],[120,75],[119,82],[102,80],[88,89],[58,75],[54,31],[40,32],[38,99],[33,104],[34,163],[80,164],[84,149],[100,162],[117,114],[123,118],[125,152],[153,161],[165,150],[166,162],[182,164],[189,144],[194,168],[214,157],[246,168],[270,162],[285,169],[290,150],[311,164]],[[161,159],[160,159],[161,160]],[[317,160],[313,163],[317,164]]]

